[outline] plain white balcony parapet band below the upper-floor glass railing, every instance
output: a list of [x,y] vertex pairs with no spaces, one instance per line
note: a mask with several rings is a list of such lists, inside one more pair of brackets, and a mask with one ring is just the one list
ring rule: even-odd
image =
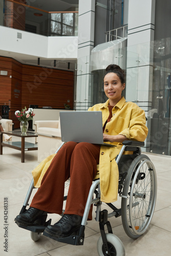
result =
[[[17,32],[22,38],[17,38]],[[77,58],[76,36],[42,36],[0,26],[0,50],[44,58]]]

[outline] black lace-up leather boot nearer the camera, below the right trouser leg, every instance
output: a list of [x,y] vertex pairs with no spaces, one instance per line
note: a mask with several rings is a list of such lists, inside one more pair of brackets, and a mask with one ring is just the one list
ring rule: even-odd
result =
[[74,231],[79,230],[82,217],[78,215],[64,214],[54,225],[49,225],[44,231],[44,235],[53,237],[69,237]]

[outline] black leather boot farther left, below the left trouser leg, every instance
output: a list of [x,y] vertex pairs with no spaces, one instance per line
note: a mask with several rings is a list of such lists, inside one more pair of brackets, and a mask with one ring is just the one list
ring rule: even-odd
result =
[[17,215],[14,221],[25,226],[44,225],[46,218],[46,211],[30,207],[23,214]]

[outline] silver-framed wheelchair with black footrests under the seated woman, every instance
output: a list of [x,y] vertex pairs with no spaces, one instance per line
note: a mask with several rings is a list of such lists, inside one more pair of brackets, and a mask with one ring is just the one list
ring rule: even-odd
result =
[[[61,146],[64,144],[63,142]],[[141,147],[144,142],[139,141],[123,141],[121,151],[116,157],[116,162],[119,167],[119,184],[118,194],[121,197],[121,208],[117,208],[113,203],[106,203],[110,206],[112,212],[108,214],[108,210],[101,210],[100,201],[100,180],[94,180],[89,191],[86,208],[82,218],[79,231],[73,233],[66,238],[52,239],[71,245],[83,245],[84,230],[88,219],[91,204],[96,206],[95,220],[99,222],[101,237],[97,241],[97,251],[99,256],[124,256],[125,250],[121,240],[112,232],[110,221],[111,217],[118,218],[121,216],[122,225],[127,236],[132,239],[139,238],[148,228],[153,218],[156,198],[157,198],[157,177],[154,164],[146,156],[141,154]],[[58,152],[56,151],[56,153]],[[123,154],[124,151],[133,152],[132,155]],[[69,181],[67,181],[69,185]],[[22,214],[27,209],[27,205],[34,188],[32,180],[23,207],[19,214]],[[95,194],[95,198],[93,198]],[[64,197],[64,202],[67,196]],[[51,219],[45,220],[43,225],[36,224],[33,226],[24,226],[16,222],[16,224],[24,229],[31,231],[31,239],[38,241],[41,233],[51,224]],[[107,232],[105,232],[107,227]]]

